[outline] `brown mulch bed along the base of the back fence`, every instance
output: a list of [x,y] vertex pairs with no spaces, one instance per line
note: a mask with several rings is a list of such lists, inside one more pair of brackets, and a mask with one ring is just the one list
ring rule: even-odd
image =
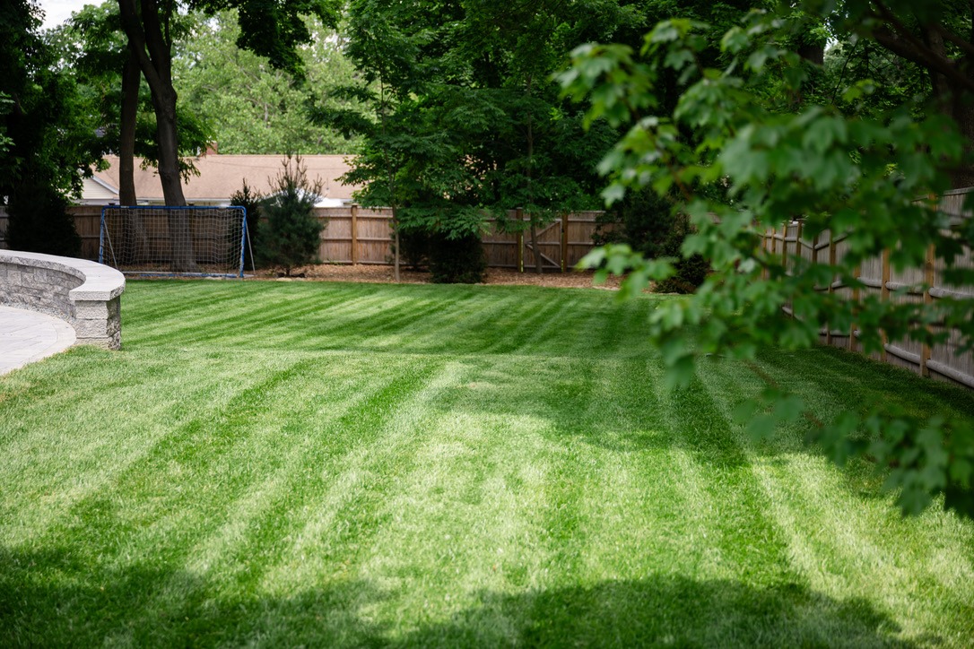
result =
[[[372,282],[372,283],[393,283],[392,266],[372,266],[364,264],[338,265],[321,264],[318,266],[306,266],[294,270],[292,274],[297,275],[297,280],[306,281],[349,281],[349,282]],[[506,284],[519,286],[549,286],[556,288],[599,288],[599,289],[618,289],[618,277],[610,277],[609,280],[600,286],[592,283],[593,272],[588,270],[570,270],[568,272],[545,272],[537,274],[535,272],[517,272],[510,269],[488,269],[484,284]],[[257,279],[278,279],[278,273],[270,270],[258,270],[254,278]],[[281,278],[287,281],[286,278]],[[399,281],[403,284],[429,284],[430,273],[416,270],[400,270]]]

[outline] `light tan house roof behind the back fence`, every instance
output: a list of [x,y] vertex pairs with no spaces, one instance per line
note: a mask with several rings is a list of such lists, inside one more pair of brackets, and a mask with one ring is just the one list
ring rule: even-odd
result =
[[[351,199],[352,193],[360,189],[358,185],[344,185],[339,180],[349,170],[347,156],[302,156],[301,162],[308,171],[308,178],[322,181],[323,198]],[[207,154],[194,159],[199,176],[191,176],[183,183],[186,200],[226,200],[244,186],[244,180],[251,189],[261,194],[271,193],[271,182],[281,171],[285,156],[225,156]],[[107,185],[118,196],[119,159],[118,156],[105,156],[109,166],[104,171],[95,171],[94,179]],[[159,182],[159,172],[155,167],[143,169],[141,160],[135,159],[135,196],[140,201],[163,198],[163,188]]]

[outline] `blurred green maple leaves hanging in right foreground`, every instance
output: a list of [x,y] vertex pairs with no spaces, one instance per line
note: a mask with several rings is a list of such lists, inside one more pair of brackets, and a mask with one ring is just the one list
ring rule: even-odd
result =
[[[753,359],[759,349],[806,347],[820,331],[847,331],[852,323],[867,352],[880,349],[883,333],[890,340],[943,343],[947,334],[939,325],[960,332],[961,350],[974,342],[970,300],[855,302],[819,290],[832,282],[861,286],[861,262],[883,249],[894,251],[897,269],[921,268],[931,245],[951,281],[974,283],[974,273],[955,266],[956,255],[974,243],[974,229],[952,229],[931,203],[917,200],[950,187],[952,171],[965,162],[965,139],[954,120],[918,110],[913,100],[889,110],[867,108],[869,85],[851,87],[842,111],[815,103],[820,93],[804,94],[808,70],[781,46],[809,23],[784,18],[794,16],[750,14],[724,36],[720,65],[706,65],[697,55],[706,49],[704,27],[672,19],[657,24],[638,52],[622,45],[578,49],[561,76],[567,94],[589,97],[589,123],[602,119],[626,128],[600,166],[611,181],[607,201],[644,188],[675,195],[677,209],[693,225],[681,252],[713,265],[690,299],[667,303],[651,318],[673,385],[693,379],[701,355]],[[657,82],[670,74],[677,75],[680,91],[671,109],[659,110],[666,99],[661,92],[671,89]],[[761,234],[796,217],[809,237],[825,230],[847,234],[843,261],[792,259],[786,268],[780,254],[765,252]],[[629,270],[623,295],[638,294],[674,271],[627,246],[598,251],[583,264]],[[694,344],[684,334],[688,325],[701,328]],[[761,402],[766,410],[751,409],[763,413],[752,427],[756,437],[805,412],[816,421],[809,439],[833,459],[869,455],[887,470],[886,487],[904,512],[917,513],[941,494],[949,508],[974,509],[969,419],[916,420],[883,403],[863,403],[818,421],[801,399],[766,379],[774,388]]]

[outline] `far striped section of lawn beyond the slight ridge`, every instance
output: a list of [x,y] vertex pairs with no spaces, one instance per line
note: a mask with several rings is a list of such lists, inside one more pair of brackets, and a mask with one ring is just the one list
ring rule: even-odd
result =
[[[151,285],[173,299],[184,290],[182,282]],[[435,293],[439,287],[430,286],[364,285],[360,289],[364,296],[354,293],[363,285],[247,282],[241,286],[240,294],[223,300],[215,314],[188,310],[153,315],[146,331],[159,333],[127,331],[127,347],[185,347],[218,341],[222,346],[279,345],[292,350],[577,354],[617,348],[625,342],[641,346],[643,334],[626,325],[643,321],[649,310],[649,303],[630,307],[603,299],[593,305],[594,312],[577,311],[565,298],[572,291],[554,290],[542,291],[531,304],[524,304],[523,292],[511,287],[458,287],[442,297]],[[304,300],[294,297],[301,295],[294,293],[301,289]],[[403,294],[409,290],[413,293]],[[625,340],[618,340],[619,330]],[[528,344],[530,339],[540,343]]]

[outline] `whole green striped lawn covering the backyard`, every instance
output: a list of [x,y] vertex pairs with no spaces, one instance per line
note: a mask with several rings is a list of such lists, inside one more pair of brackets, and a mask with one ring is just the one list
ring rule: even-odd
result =
[[[130,282],[0,378],[0,645],[970,646],[974,523],[904,520],[758,387],[667,393],[595,290]],[[970,393],[827,350],[820,415]]]

